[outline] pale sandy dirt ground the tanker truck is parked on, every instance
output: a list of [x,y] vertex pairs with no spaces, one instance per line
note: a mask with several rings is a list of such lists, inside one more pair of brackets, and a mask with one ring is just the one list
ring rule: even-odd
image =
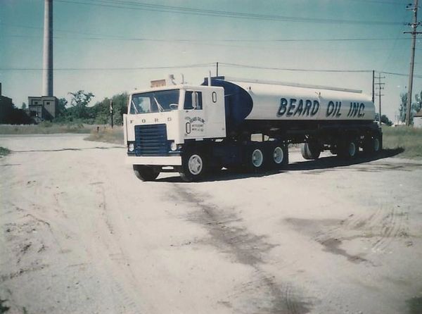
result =
[[0,313],[422,313],[422,162],[141,182],[83,138],[0,137]]

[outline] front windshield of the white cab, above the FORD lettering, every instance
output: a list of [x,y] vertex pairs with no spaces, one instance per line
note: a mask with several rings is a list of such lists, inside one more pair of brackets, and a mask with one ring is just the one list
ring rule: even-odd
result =
[[129,113],[158,113],[177,110],[179,94],[179,89],[133,94]]

